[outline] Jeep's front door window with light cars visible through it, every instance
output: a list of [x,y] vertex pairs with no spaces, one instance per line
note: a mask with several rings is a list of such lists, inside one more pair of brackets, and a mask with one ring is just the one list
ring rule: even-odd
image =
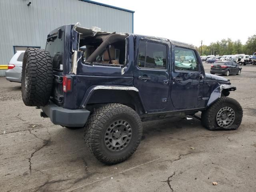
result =
[[175,47],[175,70],[198,71],[196,52],[187,48]]

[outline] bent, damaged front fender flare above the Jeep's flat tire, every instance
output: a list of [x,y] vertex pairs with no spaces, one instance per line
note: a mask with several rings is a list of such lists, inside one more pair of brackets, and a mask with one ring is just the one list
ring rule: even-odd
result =
[[221,97],[222,91],[235,91],[236,87],[235,86],[231,86],[228,84],[219,84],[217,88],[214,89],[214,91],[212,92],[212,94],[210,95],[210,98],[207,102],[206,107],[209,107],[211,104],[213,104],[218,98]]

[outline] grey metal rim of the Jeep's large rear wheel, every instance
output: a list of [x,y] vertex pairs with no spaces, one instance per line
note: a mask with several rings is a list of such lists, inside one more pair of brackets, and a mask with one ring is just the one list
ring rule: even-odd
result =
[[110,151],[120,151],[126,148],[132,138],[132,127],[125,120],[113,122],[105,133],[105,145]]

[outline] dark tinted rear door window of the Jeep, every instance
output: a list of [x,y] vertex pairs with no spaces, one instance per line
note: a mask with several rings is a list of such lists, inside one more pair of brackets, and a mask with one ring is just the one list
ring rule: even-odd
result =
[[140,68],[166,68],[166,52],[165,44],[140,41],[138,66]]

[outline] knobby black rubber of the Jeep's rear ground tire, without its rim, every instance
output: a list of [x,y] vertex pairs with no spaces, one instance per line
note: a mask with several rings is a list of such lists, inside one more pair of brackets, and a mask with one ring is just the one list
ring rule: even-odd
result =
[[[125,120],[132,128],[132,137],[126,147],[111,151],[105,145],[105,133],[114,121]],[[84,140],[94,156],[104,164],[112,165],[125,161],[138,148],[142,137],[142,122],[132,108],[118,104],[103,104],[88,118],[84,126]]]

